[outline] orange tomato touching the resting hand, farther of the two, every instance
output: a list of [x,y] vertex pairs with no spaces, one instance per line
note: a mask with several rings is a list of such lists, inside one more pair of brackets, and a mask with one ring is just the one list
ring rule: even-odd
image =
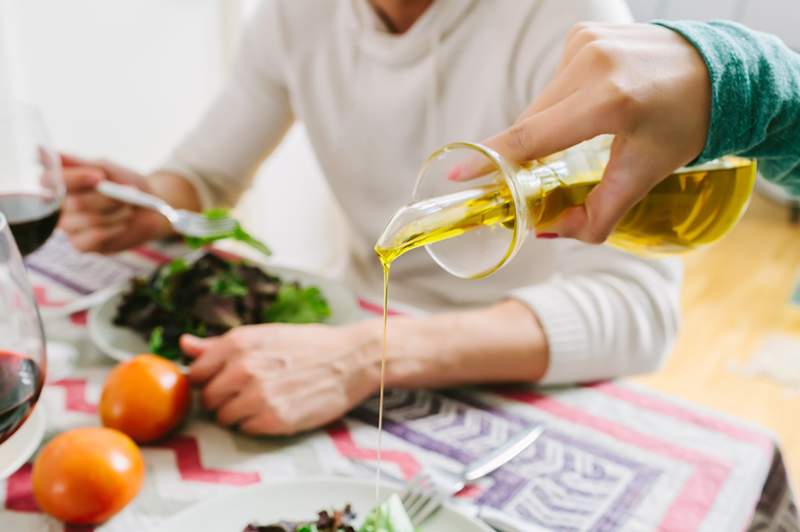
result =
[[115,367],[103,385],[100,419],[139,443],[158,440],[186,416],[189,379],[157,355],[139,355]]

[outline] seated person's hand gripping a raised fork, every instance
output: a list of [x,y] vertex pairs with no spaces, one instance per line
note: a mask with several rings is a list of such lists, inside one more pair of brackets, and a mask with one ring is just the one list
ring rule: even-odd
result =
[[151,192],[145,178],[108,161],[61,155],[67,195],[59,228],[80,251],[110,253],[166,236],[169,223],[156,212],[120,203],[97,192],[108,179]]

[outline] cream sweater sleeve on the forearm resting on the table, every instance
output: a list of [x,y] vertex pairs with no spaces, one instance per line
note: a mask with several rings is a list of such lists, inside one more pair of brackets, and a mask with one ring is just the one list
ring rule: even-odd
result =
[[513,296],[539,318],[550,348],[546,384],[657,369],[680,320],[681,265],[564,240],[556,276]]

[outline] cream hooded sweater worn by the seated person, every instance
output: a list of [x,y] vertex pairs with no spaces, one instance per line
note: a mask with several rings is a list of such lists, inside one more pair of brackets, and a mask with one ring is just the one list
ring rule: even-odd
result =
[[[192,180],[205,205],[233,204],[302,120],[354,234],[349,282],[376,295],[372,246],[423,159],[511,124],[573,24],[629,19],[622,0],[435,0],[397,36],[368,0],[264,0],[229,83],[165,169]],[[392,267],[393,300],[426,310],[527,304],[548,338],[549,383],[657,367],[676,334],[679,285],[677,261],[568,240],[530,238],[483,281],[451,277],[421,250]]]

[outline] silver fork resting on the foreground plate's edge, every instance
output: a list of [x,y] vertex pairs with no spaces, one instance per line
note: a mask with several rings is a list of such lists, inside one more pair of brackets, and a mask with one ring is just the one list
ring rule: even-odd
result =
[[438,510],[445,499],[455,495],[469,482],[478,480],[513,460],[544,432],[541,426],[528,428],[514,435],[507,443],[489,454],[467,464],[460,475],[437,472],[436,475],[421,471],[408,481],[400,500],[411,523],[417,527]]

